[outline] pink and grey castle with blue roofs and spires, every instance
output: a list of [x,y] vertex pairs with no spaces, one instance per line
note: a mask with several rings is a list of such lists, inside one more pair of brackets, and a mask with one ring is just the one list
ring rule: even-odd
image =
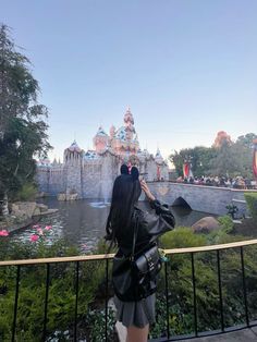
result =
[[[168,164],[159,148],[156,156],[142,150],[130,110],[124,115],[124,125],[112,125],[108,135],[100,126],[93,139],[94,148],[84,151],[76,142],[64,150],[63,163],[48,159],[37,163],[39,191],[51,196],[75,195],[76,198],[111,197],[112,184],[122,163],[136,166],[147,181],[168,180]],[[60,195],[61,194],[61,195]]]

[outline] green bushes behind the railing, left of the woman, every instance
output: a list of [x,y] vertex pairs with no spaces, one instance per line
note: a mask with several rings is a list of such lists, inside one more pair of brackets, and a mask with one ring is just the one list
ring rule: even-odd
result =
[[[3,254],[4,253],[4,254]],[[97,251],[96,251],[97,253]],[[60,240],[52,245],[47,241],[13,243],[9,237],[0,239],[0,259],[24,259],[53,256],[74,256],[79,252]],[[41,341],[44,306],[46,296],[46,265],[30,265],[21,268],[19,307],[16,319],[16,341]],[[93,277],[94,274],[94,277]],[[75,310],[76,264],[51,264],[48,295],[48,339],[70,341],[73,334]],[[77,323],[87,319],[90,306],[96,301],[102,303],[105,292],[99,288],[105,283],[105,261],[79,262]],[[16,284],[16,267],[0,268],[0,341],[11,340],[13,305]],[[99,295],[100,293],[100,295]],[[97,297],[98,296],[98,297]],[[103,306],[105,307],[105,306]],[[91,329],[96,329],[93,325]],[[87,329],[82,335],[90,335]],[[49,341],[50,341],[49,340]],[[51,340],[53,341],[53,340]]]

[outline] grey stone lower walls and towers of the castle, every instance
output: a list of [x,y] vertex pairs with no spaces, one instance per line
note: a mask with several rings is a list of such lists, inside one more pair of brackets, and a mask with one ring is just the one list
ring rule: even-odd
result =
[[[120,173],[120,167],[121,159],[108,151],[93,160],[83,160],[79,154],[65,156],[64,164],[38,167],[39,192],[50,196],[76,193],[78,198],[108,199],[111,197],[113,181]],[[139,172],[147,173],[147,181],[157,178],[157,163],[154,159],[140,162],[138,168]],[[163,164],[159,168],[161,178],[168,180],[168,167]]]

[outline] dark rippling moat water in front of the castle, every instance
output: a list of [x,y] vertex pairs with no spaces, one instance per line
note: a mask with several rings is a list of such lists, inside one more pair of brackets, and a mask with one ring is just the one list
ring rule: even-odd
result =
[[[94,249],[98,241],[105,236],[105,225],[109,213],[110,204],[97,200],[75,200],[58,201],[56,198],[41,200],[49,208],[59,209],[54,215],[44,217],[34,224],[52,225],[47,237],[51,241],[63,237],[79,247],[82,253]],[[147,203],[140,201],[139,206],[144,209],[149,208]],[[171,208],[176,225],[189,227],[203,217],[209,216],[206,212],[194,211],[182,207]],[[35,233],[35,228],[28,227],[16,232],[12,239],[17,241],[30,242],[30,235]]]

